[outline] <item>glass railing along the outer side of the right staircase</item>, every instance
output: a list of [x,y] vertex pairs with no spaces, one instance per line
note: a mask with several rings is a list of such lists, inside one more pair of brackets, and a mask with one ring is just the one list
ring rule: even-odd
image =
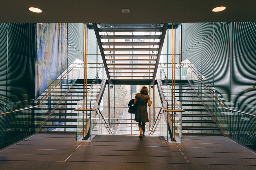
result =
[[190,81],[192,87],[204,102],[209,113],[214,117],[225,136],[231,137],[238,141],[238,143],[249,147],[254,145],[255,133],[253,136],[251,131],[253,130],[252,128],[255,128],[252,122],[256,105],[247,104],[246,101],[240,103],[225,100],[188,59],[183,61],[178,67],[181,73],[178,78]]

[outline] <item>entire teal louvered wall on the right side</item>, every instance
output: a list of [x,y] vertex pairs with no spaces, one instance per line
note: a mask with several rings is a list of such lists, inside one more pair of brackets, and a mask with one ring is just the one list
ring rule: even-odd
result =
[[[195,31],[195,25],[196,23],[194,23],[194,40],[195,37],[201,36],[197,35],[201,33]],[[182,47],[187,44],[186,35],[187,32],[183,31]],[[241,91],[256,83],[256,23],[202,23],[201,38],[202,59],[200,58],[201,42],[199,40],[199,44],[193,46],[194,66],[199,71],[202,67],[202,74],[210,81],[213,79],[214,87],[226,100],[233,101],[237,107],[236,102],[240,102],[239,109],[241,111],[255,114],[255,90],[249,93]],[[188,50],[183,50],[182,61],[186,59],[187,53]],[[214,58],[212,58],[213,56]],[[213,63],[214,65],[212,65]],[[218,120],[230,137],[244,145],[252,144],[247,136],[252,119],[252,116],[241,114],[238,120],[238,114],[235,112],[218,113]]]

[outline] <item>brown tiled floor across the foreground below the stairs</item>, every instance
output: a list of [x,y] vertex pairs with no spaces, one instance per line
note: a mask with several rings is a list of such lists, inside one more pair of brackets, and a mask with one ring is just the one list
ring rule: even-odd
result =
[[38,134],[0,152],[0,169],[256,169],[256,154],[222,136],[96,136]]

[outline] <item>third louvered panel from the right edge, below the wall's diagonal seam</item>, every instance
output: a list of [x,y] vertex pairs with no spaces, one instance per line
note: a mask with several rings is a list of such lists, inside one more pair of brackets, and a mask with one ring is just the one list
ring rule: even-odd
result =
[[214,79],[213,60],[213,34],[202,40],[202,74],[213,84]]

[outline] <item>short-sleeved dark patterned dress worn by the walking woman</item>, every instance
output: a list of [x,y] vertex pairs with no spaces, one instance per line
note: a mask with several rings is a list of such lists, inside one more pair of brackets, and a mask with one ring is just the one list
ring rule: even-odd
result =
[[141,93],[137,93],[135,98],[137,99],[137,109],[135,112],[135,121],[136,122],[142,122],[146,123],[148,121],[148,115],[147,115],[147,100],[150,100],[150,97],[148,95],[143,95]]

